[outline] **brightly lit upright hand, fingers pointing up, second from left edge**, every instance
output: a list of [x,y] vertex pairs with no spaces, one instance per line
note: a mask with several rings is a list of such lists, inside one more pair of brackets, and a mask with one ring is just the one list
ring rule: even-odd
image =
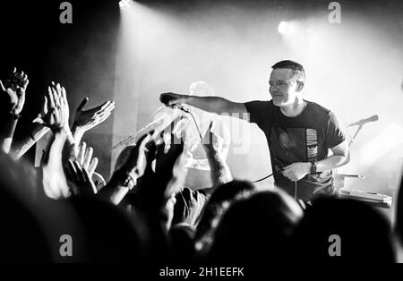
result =
[[58,130],[70,132],[69,105],[65,89],[59,83],[52,82],[52,85],[47,88],[43,113],[45,115],[39,114],[32,123],[47,126],[53,132]]

